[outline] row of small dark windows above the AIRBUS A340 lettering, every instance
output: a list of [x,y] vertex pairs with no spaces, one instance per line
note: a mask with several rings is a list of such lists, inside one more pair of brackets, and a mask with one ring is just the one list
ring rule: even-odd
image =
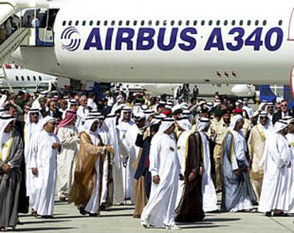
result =
[[[168,22],[168,21],[97,21],[97,22],[95,22],[96,23],[96,25],[97,26],[99,26],[99,25],[104,25],[104,26],[107,26],[107,25],[111,25],[111,26],[114,26],[114,25],[119,25],[119,26],[121,26],[121,25],[126,25],[126,26],[129,26],[129,25],[134,25],[134,26],[136,26],[136,25],[141,25],[141,26],[143,26],[143,25],[148,25],[148,26],[152,26],[153,24],[154,25],[163,25],[163,26],[166,26],[166,25],[168,25],[168,24],[170,24],[170,25],[187,25],[187,26],[189,26],[189,25],[202,25],[202,26],[204,26],[205,25],[205,23],[207,23],[209,26],[211,26],[211,25],[214,25],[214,23],[215,23],[215,25],[217,25],[217,26],[219,26],[219,25],[221,25],[221,24],[224,24],[225,26],[227,26],[227,25],[232,25],[232,26],[234,26],[234,25],[238,25],[238,23],[239,23],[239,25],[241,26],[241,25],[256,25],[256,26],[258,26],[258,25],[263,25],[263,26],[265,26],[266,24],[267,24],[267,21],[266,20],[263,20],[263,21],[258,21],[258,20],[256,20],[256,21],[251,21],[251,20],[249,20],[249,21],[235,21],[235,20],[233,20],[233,21],[227,21],[227,20],[225,20],[225,21],[170,21],[170,22]],[[69,25],[69,26],[72,26],[72,25],[76,25],[76,26],[78,26],[78,25],[83,25],[83,26],[85,26],[85,25],[87,25],[87,21],[63,21],[62,22],[62,25]],[[94,21],[89,21],[88,22],[88,25],[89,26],[92,26],[92,25],[94,25]],[[280,20],[280,21],[278,21],[278,25],[283,25],[283,21],[282,20]]]

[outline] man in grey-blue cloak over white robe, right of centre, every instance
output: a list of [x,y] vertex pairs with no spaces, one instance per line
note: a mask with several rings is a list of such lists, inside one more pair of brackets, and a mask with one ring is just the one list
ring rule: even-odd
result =
[[244,119],[235,115],[224,137],[222,155],[222,205],[223,211],[237,212],[251,210],[252,202],[256,201],[250,183],[249,162],[246,158],[246,140],[241,129]]

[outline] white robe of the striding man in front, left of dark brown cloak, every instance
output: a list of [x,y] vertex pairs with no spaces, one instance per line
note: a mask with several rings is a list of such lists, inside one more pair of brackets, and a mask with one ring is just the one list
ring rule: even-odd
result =
[[178,194],[180,161],[173,135],[157,133],[151,141],[150,166],[152,176],[158,175],[159,184],[152,183],[151,194],[141,219],[154,227],[175,223],[175,201]]

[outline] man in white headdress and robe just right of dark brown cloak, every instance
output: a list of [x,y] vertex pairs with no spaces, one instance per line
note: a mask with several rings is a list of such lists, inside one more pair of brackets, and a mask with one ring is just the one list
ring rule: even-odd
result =
[[211,161],[209,140],[206,132],[209,130],[210,120],[208,118],[200,118],[197,122],[197,129],[202,140],[202,154],[204,171],[202,174],[202,205],[204,212],[212,212],[217,210],[217,192],[215,191],[212,181],[211,171],[214,166]]

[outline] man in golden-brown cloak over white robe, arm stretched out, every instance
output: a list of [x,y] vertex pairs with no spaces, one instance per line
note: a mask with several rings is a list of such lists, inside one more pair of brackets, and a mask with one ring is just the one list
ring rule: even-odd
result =
[[110,145],[103,145],[101,137],[97,134],[98,124],[97,118],[86,119],[80,135],[75,181],[69,198],[69,203],[75,203],[80,208],[80,213],[89,214],[89,217],[100,216],[104,154],[106,151],[114,152]]

